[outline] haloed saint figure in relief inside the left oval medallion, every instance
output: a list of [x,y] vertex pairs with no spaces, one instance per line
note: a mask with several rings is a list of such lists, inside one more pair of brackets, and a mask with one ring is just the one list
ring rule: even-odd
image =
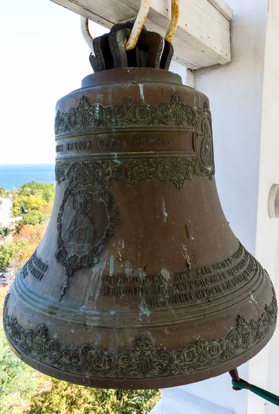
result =
[[92,217],[88,214],[92,197],[86,190],[79,190],[73,199],[75,215],[64,233],[64,245],[70,255],[82,255],[93,248],[96,230]]

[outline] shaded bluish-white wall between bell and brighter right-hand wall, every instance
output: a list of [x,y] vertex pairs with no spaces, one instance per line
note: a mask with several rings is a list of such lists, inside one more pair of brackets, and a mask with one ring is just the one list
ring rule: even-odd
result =
[[228,0],[233,8],[232,63],[195,72],[213,115],[216,181],[235,235],[256,248],[262,84],[267,0]]

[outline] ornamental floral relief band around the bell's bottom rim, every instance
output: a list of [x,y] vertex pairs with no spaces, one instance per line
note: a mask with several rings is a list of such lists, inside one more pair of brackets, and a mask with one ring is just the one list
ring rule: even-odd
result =
[[124,351],[97,351],[90,344],[79,348],[60,344],[50,337],[46,325],[36,331],[24,329],[17,317],[8,314],[8,298],[9,295],[4,304],[3,325],[8,339],[19,352],[42,364],[88,377],[154,378],[211,368],[260,343],[275,328],[277,317],[273,292],[271,304],[265,306],[258,320],[249,322],[238,316],[235,328],[225,337],[212,340],[199,337],[195,344],[171,351],[157,348],[148,337],[141,336]]

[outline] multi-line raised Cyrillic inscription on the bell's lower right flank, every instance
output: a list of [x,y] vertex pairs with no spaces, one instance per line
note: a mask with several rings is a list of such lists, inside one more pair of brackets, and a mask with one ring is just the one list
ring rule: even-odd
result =
[[150,307],[204,302],[246,284],[255,270],[255,259],[240,244],[228,259],[191,273],[174,273],[169,281],[161,273],[144,278],[126,274],[105,276],[102,294],[119,298],[144,297]]

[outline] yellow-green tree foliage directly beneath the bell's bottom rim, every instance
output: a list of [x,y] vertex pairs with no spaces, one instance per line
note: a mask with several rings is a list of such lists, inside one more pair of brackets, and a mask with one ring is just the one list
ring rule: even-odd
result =
[[160,391],[87,388],[52,379],[48,391],[32,395],[28,414],[147,414]]

